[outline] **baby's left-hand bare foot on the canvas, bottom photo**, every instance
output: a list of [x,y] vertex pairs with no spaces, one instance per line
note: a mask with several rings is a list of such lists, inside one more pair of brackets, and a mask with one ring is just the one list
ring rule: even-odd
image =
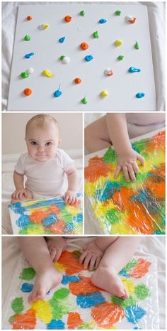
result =
[[54,288],[62,281],[62,275],[59,273],[54,266],[45,269],[44,271],[37,274],[33,292],[30,293],[28,301],[33,303],[37,300],[42,300],[51,288]]

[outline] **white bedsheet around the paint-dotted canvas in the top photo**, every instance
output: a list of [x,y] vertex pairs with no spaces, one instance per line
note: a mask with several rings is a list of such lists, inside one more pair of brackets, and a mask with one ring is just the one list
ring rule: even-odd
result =
[[[62,4],[63,2],[61,2]],[[79,2],[84,4],[84,2]],[[91,1],[88,2],[91,4]],[[95,2],[93,2],[94,4]],[[107,2],[106,2],[107,3]],[[46,4],[46,2],[4,2],[2,3],[2,110],[6,110],[8,101],[8,88],[11,72],[13,42],[16,28],[17,9],[19,5]],[[47,2],[54,4],[54,2]],[[57,2],[59,4],[59,2]],[[71,2],[73,4],[73,2]],[[105,2],[103,2],[105,4]],[[115,2],[110,2],[115,4]],[[147,6],[149,14],[149,27],[151,35],[151,49],[156,84],[156,110],[165,110],[165,1],[136,1],[121,2],[119,4],[142,4]],[[121,110],[121,109],[120,109]]]

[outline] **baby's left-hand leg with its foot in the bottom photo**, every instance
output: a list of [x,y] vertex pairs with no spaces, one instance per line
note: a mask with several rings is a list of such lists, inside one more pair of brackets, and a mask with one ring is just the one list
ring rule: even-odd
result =
[[23,254],[37,275],[29,302],[42,300],[45,294],[62,281],[62,275],[52,263],[47,243],[43,237],[18,238]]

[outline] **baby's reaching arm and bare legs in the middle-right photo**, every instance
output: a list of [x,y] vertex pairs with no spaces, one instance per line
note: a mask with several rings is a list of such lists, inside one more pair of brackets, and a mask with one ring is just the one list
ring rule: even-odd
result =
[[163,113],[108,113],[85,129],[85,146],[88,153],[100,151],[113,144],[117,153],[115,178],[122,170],[127,182],[135,182],[139,173],[137,161],[144,165],[144,158],[134,151],[129,139],[165,126]]

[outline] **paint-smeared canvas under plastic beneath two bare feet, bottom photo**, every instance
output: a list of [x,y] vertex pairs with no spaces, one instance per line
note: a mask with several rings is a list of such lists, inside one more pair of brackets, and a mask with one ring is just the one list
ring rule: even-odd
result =
[[156,259],[137,257],[120,271],[129,298],[123,300],[93,286],[93,272],[79,264],[80,251],[64,251],[55,264],[62,283],[45,300],[28,303],[35,271],[20,261],[4,307],[6,329],[159,329]]

